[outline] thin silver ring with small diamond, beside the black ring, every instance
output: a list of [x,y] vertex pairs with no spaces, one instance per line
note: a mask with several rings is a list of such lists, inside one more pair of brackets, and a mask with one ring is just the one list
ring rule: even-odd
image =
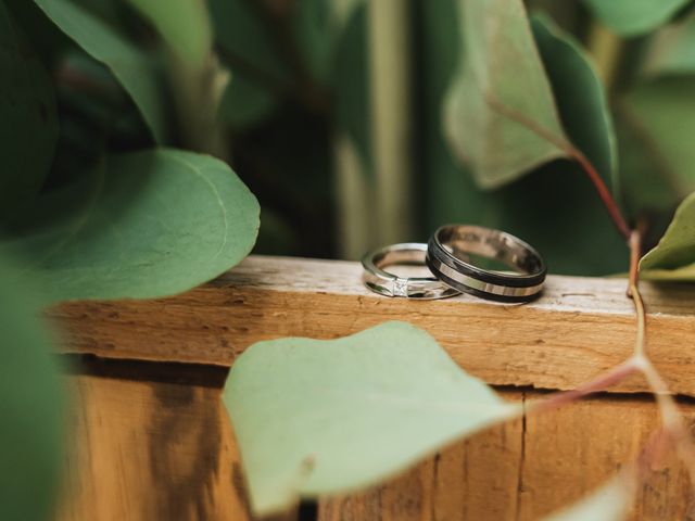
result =
[[363,281],[371,291],[384,296],[407,298],[446,298],[459,293],[434,277],[399,277],[382,268],[394,264],[425,266],[427,244],[408,242],[392,244],[362,258]]

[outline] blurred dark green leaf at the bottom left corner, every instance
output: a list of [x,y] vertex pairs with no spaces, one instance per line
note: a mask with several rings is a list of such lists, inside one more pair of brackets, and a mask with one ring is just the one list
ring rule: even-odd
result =
[[0,262],[0,519],[50,519],[63,442],[63,397],[33,281]]

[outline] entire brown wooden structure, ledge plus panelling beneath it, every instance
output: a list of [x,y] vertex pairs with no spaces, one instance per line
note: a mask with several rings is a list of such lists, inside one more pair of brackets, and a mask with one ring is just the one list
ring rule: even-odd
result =
[[[407,320],[466,370],[504,385],[509,399],[538,397],[531,387],[574,387],[632,351],[634,314],[623,280],[551,277],[539,301],[501,305],[467,296],[386,298],[359,277],[355,263],[250,257],[184,295],[52,309],[68,333],[62,351],[81,364],[65,377],[72,448],[56,519],[250,521],[219,389],[225,366],[260,340],[330,339]],[[672,390],[695,396],[692,288],[645,283],[643,293],[652,358]],[[98,358],[85,365],[84,354]],[[378,490],[321,503],[318,520],[538,519],[634,458],[658,419],[647,395],[626,393],[645,390],[635,378],[491,429]],[[692,424],[695,402],[681,402]],[[694,499],[671,455],[652,469],[634,519],[695,520]]]

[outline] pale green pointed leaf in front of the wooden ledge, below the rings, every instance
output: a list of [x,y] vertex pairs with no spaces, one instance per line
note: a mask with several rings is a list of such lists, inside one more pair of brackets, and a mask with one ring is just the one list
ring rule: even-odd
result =
[[260,516],[375,485],[520,412],[404,322],[254,344],[224,402]]

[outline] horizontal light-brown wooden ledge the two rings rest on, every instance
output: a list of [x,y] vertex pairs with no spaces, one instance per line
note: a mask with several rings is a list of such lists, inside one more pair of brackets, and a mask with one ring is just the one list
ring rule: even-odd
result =
[[[694,287],[642,287],[649,355],[673,392],[695,396]],[[260,340],[333,339],[406,320],[488,383],[573,389],[631,354],[635,323],[624,289],[621,279],[549,277],[543,296],[526,305],[465,295],[414,302],[370,293],[357,263],[251,256],[182,295],[67,303],[49,315],[68,334],[64,352],[223,366]],[[643,391],[636,377],[610,390]]]

